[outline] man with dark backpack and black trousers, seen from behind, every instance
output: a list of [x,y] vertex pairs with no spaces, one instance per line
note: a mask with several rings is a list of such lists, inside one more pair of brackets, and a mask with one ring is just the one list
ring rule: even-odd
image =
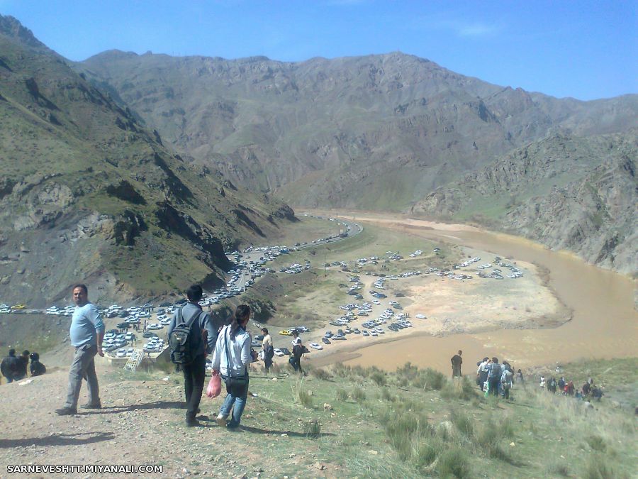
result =
[[206,377],[206,356],[213,351],[217,341],[211,316],[198,304],[202,294],[200,285],[192,285],[186,290],[189,300],[174,312],[168,329],[171,360],[184,372],[186,426],[189,427],[199,425],[195,417]]

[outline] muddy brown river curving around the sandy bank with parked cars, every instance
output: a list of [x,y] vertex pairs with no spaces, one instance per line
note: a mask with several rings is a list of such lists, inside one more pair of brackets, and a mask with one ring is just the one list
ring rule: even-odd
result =
[[335,353],[323,363],[344,361],[350,365],[376,365],[394,370],[410,361],[449,373],[449,358],[461,349],[463,372],[474,373],[476,361],[483,356],[497,356],[499,360],[509,360],[516,368],[526,368],[581,358],[636,356],[638,352],[635,282],[629,277],[588,265],[571,253],[548,250],[523,238],[464,225],[363,214],[357,214],[357,221],[542,265],[549,270],[549,286],[573,310],[573,319],[555,329],[502,329],[447,337],[415,334],[357,351]]

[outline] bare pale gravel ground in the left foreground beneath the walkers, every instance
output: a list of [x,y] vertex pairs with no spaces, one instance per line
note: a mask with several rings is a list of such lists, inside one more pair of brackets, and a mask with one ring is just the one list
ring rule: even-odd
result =
[[[243,422],[248,429],[230,432],[212,420],[221,397],[203,397],[200,417],[203,426],[184,426],[183,378],[169,380],[123,380],[120,370],[98,371],[103,409],[79,409],[76,416],[61,417],[54,410],[64,402],[67,371],[57,371],[27,380],[26,384],[0,386],[0,421],[5,432],[0,439],[0,477],[9,477],[6,466],[15,464],[155,464],[162,473],[142,477],[246,477],[281,475],[293,461],[316,461],[313,443],[300,439],[296,417],[288,427],[269,427],[254,417],[272,409],[261,397],[249,397]],[[281,380],[286,380],[285,378]],[[259,385],[255,385],[259,388]],[[80,404],[86,401],[82,388]],[[252,434],[251,434],[252,433]],[[283,436],[282,436],[283,434]],[[285,446],[296,451],[295,458],[264,456],[264,441],[296,441]],[[311,466],[310,466],[311,467]],[[335,471],[335,468],[332,471]],[[311,472],[312,470],[312,472]],[[303,468],[306,475],[322,477],[317,469]],[[55,477],[123,477],[123,474],[66,473]],[[18,474],[13,477],[43,477]],[[50,475],[47,475],[50,477]]]

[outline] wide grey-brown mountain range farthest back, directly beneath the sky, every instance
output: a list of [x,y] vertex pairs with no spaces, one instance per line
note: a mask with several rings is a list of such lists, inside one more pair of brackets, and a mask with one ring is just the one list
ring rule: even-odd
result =
[[401,210],[532,141],[638,126],[638,95],[555,99],[402,53],[291,63],[113,50],[77,68],[184,158],[307,206]]

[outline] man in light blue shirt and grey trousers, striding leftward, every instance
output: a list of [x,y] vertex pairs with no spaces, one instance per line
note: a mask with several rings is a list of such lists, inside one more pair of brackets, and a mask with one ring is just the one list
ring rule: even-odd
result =
[[95,356],[104,356],[102,340],[104,323],[99,309],[89,302],[89,288],[86,285],[73,287],[75,310],[71,319],[71,345],[75,347],[75,356],[69,370],[69,387],[64,407],[55,409],[57,414],[67,416],[77,414],[77,400],[82,387],[82,379],[89,385],[89,402],[82,409],[100,409],[99,385],[95,373]]

